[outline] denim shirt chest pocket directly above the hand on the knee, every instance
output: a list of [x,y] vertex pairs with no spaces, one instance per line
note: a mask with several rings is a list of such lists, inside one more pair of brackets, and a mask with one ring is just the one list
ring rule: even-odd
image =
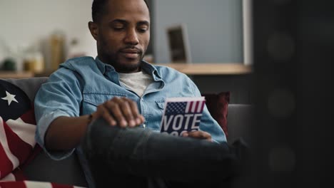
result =
[[83,105],[98,106],[114,97],[126,97],[123,93],[83,93]]

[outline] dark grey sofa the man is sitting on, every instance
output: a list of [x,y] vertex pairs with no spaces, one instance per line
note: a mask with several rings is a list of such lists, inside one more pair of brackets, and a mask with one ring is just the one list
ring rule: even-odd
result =
[[[10,83],[19,86],[34,101],[34,96],[39,86],[46,82],[47,78],[6,79]],[[233,95],[231,96],[233,97]],[[233,142],[238,137],[248,141],[248,127],[253,118],[253,108],[245,104],[228,105],[228,142]],[[59,184],[72,184],[87,187],[84,174],[81,170],[76,155],[61,160],[51,160],[44,152],[41,152],[24,169],[26,177],[30,180],[42,182],[55,182]]]

